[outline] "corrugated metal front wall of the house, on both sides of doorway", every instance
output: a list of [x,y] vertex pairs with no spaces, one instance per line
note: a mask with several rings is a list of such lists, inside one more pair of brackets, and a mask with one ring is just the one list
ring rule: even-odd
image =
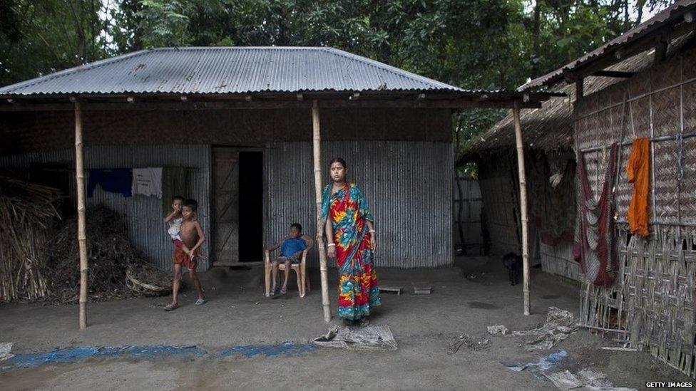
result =
[[[71,149],[0,157],[2,167],[31,162],[73,162]],[[434,267],[452,263],[453,155],[448,142],[323,142],[326,169],[332,157],[344,157],[349,180],[365,192],[375,216],[382,267]],[[87,168],[190,167],[191,194],[198,199],[203,229],[210,236],[210,145],[89,146]],[[265,242],[287,233],[291,222],[314,235],[314,167],[311,142],[272,142],[266,147],[267,218]],[[324,183],[328,176],[324,171]],[[103,192],[88,207],[105,204],[126,216],[135,245],[154,264],[171,268],[172,245],[162,223],[160,199]],[[203,251],[209,253],[204,244]],[[317,253],[310,256],[317,263]],[[200,270],[210,267],[201,262]]]

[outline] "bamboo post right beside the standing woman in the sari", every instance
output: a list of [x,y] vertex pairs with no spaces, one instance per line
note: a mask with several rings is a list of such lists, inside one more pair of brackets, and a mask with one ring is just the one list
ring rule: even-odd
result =
[[312,103],[312,131],[314,133],[314,196],[317,199],[317,249],[319,250],[319,271],[322,275],[322,306],[324,321],[331,321],[329,303],[329,281],[327,276],[327,254],[324,247],[324,220],[322,219],[322,135],[319,127],[319,106]]

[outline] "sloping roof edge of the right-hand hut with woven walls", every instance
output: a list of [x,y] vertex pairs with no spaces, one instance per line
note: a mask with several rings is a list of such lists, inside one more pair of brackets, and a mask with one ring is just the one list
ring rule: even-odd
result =
[[610,51],[616,50],[621,46],[625,46],[629,43],[632,43],[638,38],[642,38],[643,36],[648,35],[652,31],[655,31],[655,29],[660,28],[663,24],[681,18],[682,14],[684,14],[684,12],[688,11],[688,9],[690,8],[696,9],[696,0],[677,1],[675,4],[672,4],[672,6],[669,6],[667,9],[660,11],[659,13],[657,13],[657,15],[648,19],[644,23],[639,24],[634,28],[631,28],[629,31],[626,31],[621,36],[618,36],[617,38],[614,38],[613,40],[609,41],[608,43],[605,43],[599,48],[596,48],[590,53],[585,54],[585,56],[577,58],[575,59],[575,61],[572,61],[566,64],[565,66],[556,69],[556,71],[547,73],[546,75],[543,75],[539,78],[536,78],[528,83],[521,85],[521,87],[518,88],[518,90],[529,90],[531,88],[541,87],[542,85],[556,83],[556,81],[558,81],[564,73],[575,71],[575,69],[580,68],[580,66],[584,66],[587,63],[595,61],[598,58],[609,53]]

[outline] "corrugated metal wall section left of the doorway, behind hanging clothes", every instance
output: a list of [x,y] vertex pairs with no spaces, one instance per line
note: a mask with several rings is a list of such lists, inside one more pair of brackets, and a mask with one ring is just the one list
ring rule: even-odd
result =
[[[73,162],[74,150],[34,152],[0,157],[2,167],[29,167],[31,162]],[[86,168],[132,167],[189,167],[190,194],[198,200],[198,216],[203,231],[210,232],[210,145],[143,145],[143,146],[87,146]],[[172,268],[172,243],[162,222],[162,202],[155,197],[103,192],[100,187],[87,206],[103,204],[126,216],[128,233],[140,251],[162,269]],[[88,233],[89,234],[89,233]],[[203,244],[208,254],[208,245]],[[199,270],[208,269],[208,260],[200,262]]]

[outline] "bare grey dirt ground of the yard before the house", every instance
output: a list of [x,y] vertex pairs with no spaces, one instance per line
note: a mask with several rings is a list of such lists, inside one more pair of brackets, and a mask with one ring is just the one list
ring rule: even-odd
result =
[[[577,314],[578,286],[532,271],[532,314],[523,316],[521,285],[510,286],[496,259],[462,257],[456,267],[436,270],[378,269],[382,283],[406,287],[399,296],[383,293],[383,305],[372,317],[372,324],[393,331],[399,343],[394,352],[317,348],[271,357],[91,358],[0,370],[0,390],[555,390],[531,371],[513,372],[501,361],[533,362],[558,349],[568,352],[558,370],[589,368],[607,374],[615,386],[643,389],[646,381],[691,380],[645,352],[600,350],[610,341],[586,330],[537,353],[527,352],[520,337],[498,335],[489,336],[487,350],[463,346],[448,354],[453,338],[486,337],[488,325],[533,328],[543,323],[548,306]],[[0,342],[14,342],[13,353],[121,345],[196,345],[215,352],[285,341],[305,344],[328,328],[317,276],[307,297],[299,298],[291,286],[287,298],[270,300],[262,295],[260,269],[213,269],[203,275],[210,300],[205,306],[193,306],[191,291],[171,313],[162,309],[167,297],[91,303],[84,331],[77,329],[76,306],[4,304]],[[420,281],[431,283],[431,295],[409,293],[411,283]],[[335,311],[334,289],[330,292]]]

